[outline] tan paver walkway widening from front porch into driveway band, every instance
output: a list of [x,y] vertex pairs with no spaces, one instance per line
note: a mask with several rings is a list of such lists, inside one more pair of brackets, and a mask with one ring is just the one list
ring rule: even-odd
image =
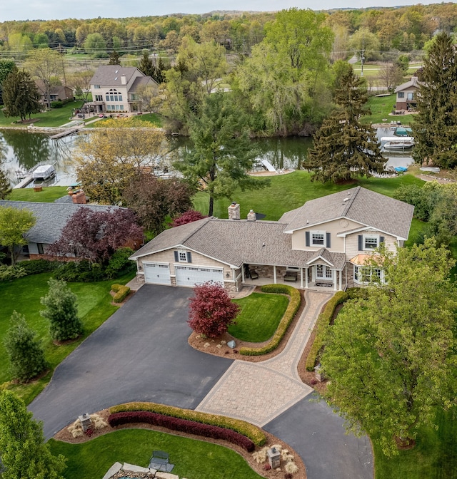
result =
[[313,391],[297,366],[323,304],[332,294],[305,292],[306,307],[286,347],[261,363],[234,361],[196,411],[264,426]]

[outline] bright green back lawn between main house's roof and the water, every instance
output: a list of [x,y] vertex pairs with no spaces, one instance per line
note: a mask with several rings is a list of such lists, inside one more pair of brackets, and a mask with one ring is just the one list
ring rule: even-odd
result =
[[[392,196],[393,192],[401,185],[423,185],[413,175],[401,175],[394,178],[362,178],[358,182],[348,185],[323,185],[320,182],[311,182],[310,174],[298,170],[288,175],[268,177],[269,185],[261,190],[244,191],[236,190],[232,197],[219,198],[214,202],[213,215],[219,218],[228,217],[227,207],[231,201],[241,205],[241,217],[246,218],[251,208],[259,213],[266,214],[266,220],[278,220],[284,212],[293,210],[303,205],[308,200],[313,200],[325,195],[331,195],[342,190],[360,185],[368,190],[373,190],[383,195]],[[259,182],[266,181],[259,178]],[[198,192],[194,197],[194,207],[204,215],[208,215],[209,196],[205,192]]]

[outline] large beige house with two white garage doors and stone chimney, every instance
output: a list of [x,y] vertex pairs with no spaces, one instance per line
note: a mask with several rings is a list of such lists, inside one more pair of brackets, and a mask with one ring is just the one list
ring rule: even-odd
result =
[[212,280],[233,292],[244,283],[291,281],[341,290],[368,283],[372,274],[383,280],[367,261],[381,243],[391,251],[403,246],[413,209],[362,187],[308,201],[279,221],[258,221],[252,211],[240,220],[233,203],[229,220],[165,230],[130,259],[139,282],[193,287]]

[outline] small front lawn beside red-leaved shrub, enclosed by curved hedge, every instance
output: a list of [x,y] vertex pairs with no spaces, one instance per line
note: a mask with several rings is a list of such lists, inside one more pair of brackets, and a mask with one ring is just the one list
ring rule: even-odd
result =
[[273,336],[288,305],[281,294],[253,293],[246,298],[233,299],[241,307],[236,324],[229,333],[242,341],[260,343]]

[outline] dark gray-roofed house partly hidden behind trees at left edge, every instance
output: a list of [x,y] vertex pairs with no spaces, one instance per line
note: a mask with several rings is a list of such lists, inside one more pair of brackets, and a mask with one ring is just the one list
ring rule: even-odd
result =
[[25,235],[27,245],[23,248],[24,254],[29,254],[30,259],[56,259],[46,254],[46,249],[49,244],[60,238],[66,223],[78,208],[90,208],[94,211],[119,208],[116,206],[78,205],[71,202],[71,199],[70,202],[54,203],[0,200],[0,207],[29,210],[34,214],[36,223]]

